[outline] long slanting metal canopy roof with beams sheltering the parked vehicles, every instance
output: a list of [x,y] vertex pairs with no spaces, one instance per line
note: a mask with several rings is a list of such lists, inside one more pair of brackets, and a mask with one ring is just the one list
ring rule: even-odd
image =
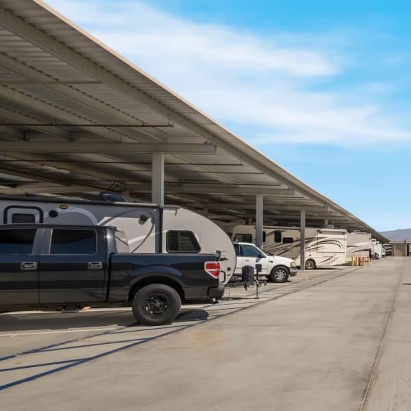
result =
[[0,0],[0,192],[151,199],[151,153],[166,153],[164,198],[210,219],[371,232],[121,55],[37,0]]

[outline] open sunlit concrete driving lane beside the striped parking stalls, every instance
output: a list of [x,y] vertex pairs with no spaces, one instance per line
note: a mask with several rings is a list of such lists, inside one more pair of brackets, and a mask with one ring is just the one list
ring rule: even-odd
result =
[[389,258],[345,269],[282,298],[3,390],[2,408],[351,411],[365,399],[366,411],[409,410],[404,321],[411,286],[402,283],[411,282],[410,268],[411,260]]

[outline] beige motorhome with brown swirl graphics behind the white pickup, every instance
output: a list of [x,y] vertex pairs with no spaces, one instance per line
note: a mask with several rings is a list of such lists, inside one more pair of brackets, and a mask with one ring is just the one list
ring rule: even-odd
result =
[[[221,227],[238,242],[256,242],[255,225],[221,224]],[[299,227],[264,226],[262,233],[264,251],[300,261]],[[306,269],[347,262],[347,230],[334,228],[306,228]]]

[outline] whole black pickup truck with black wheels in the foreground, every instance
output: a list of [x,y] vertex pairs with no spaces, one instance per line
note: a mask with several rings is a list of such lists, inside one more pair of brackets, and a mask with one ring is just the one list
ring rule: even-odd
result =
[[219,298],[219,256],[129,253],[114,227],[0,226],[0,310],[132,306],[144,325],[171,323],[182,301]]

